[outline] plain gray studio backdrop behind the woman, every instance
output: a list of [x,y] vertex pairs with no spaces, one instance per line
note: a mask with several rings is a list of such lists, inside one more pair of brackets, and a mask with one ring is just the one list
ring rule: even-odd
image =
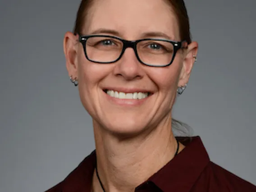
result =
[[[94,149],[63,37],[80,0],[0,1],[0,192],[40,192]],[[186,0],[198,62],[174,117],[210,158],[256,184],[255,0]]]

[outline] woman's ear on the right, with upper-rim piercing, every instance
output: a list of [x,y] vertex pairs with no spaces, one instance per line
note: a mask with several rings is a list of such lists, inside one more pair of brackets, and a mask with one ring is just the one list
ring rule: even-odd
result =
[[193,64],[195,63],[198,51],[198,43],[193,41],[187,46],[187,49],[184,50],[184,59],[183,67],[179,76],[178,87],[182,87],[187,84],[192,71]]

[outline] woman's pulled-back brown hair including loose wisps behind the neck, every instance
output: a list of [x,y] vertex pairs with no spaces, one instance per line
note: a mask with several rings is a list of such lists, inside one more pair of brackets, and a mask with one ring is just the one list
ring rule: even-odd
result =
[[[73,28],[74,34],[82,34],[82,29],[85,25],[85,20],[89,9],[92,7],[94,0],[82,0],[77,12],[76,22]],[[165,0],[167,4],[174,10],[178,20],[179,35],[181,41],[187,41],[188,44],[192,42],[189,18],[187,15],[187,8],[183,0]],[[192,136],[192,128],[177,119],[172,119],[172,129],[176,136]]]

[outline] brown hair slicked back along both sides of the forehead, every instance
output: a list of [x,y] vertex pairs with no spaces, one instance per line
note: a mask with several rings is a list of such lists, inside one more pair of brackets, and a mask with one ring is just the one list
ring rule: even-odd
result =
[[[165,0],[174,10],[179,25],[180,38],[182,41],[186,40],[188,44],[191,43],[189,19],[187,16],[187,9],[183,0]],[[82,0],[78,9],[76,23],[73,33],[81,34],[84,27],[84,21],[87,17],[88,10],[91,8],[93,0]]]

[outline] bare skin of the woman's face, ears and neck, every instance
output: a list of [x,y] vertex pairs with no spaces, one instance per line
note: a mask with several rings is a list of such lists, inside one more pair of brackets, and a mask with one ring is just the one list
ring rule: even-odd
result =
[[[171,40],[181,40],[178,21],[164,0],[96,0],[85,23],[83,35],[107,29],[115,34],[97,34],[137,40],[148,37],[145,32],[162,32]],[[82,105],[93,119],[97,166],[106,191],[132,192],[174,157],[171,109],[178,86],[188,82],[197,47],[192,42],[178,50],[168,67],[141,64],[131,48],[116,63],[96,64],[86,59],[78,36],[65,34],[66,66],[69,76],[77,77]],[[106,87],[147,90],[153,95],[139,105],[128,101],[119,105],[102,91]],[[183,148],[180,144],[179,151]],[[92,191],[102,191],[95,174]]]

